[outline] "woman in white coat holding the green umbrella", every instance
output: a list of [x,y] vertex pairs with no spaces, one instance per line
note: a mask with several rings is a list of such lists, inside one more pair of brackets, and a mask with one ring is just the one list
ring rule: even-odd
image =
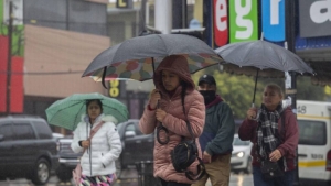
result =
[[[103,113],[103,103],[98,99],[86,101],[86,112],[74,131],[71,145],[74,152],[84,152],[79,185],[107,186],[116,179],[115,161],[121,153],[121,142],[115,127],[117,120]],[[88,141],[90,130],[100,122],[103,127]]]

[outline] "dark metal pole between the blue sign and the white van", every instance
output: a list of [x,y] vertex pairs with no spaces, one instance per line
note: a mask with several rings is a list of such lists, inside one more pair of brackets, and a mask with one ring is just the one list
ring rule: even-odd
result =
[[[297,0],[287,0],[286,3],[286,40],[287,47],[289,51],[296,53],[296,6],[298,4]],[[293,113],[297,116],[297,73],[289,72],[290,76],[287,78],[290,81],[289,87],[286,87],[287,97],[291,98],[291,107]],[[296,169],[295,169],[295,178],[293,185],[299,186],[299,168],[298,168],[298,147],[297,147],[297,157],[296,157]]]

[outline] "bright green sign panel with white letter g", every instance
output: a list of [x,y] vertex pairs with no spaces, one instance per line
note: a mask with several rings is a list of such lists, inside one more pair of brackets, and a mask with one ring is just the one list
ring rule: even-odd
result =
[[257,0],[231,0],[229,42],[258,39]]

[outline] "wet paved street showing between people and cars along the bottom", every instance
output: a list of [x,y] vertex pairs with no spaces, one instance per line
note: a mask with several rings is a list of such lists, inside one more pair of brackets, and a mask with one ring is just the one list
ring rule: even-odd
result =
[[[232,174],[229,186],[253,186],[252,175]],[[73,186],[73,183],[61,183],[56,176],[52,176],[46,186]],[[30,180],[17,179],[0,182],[0,186],[33,186]],[[114,186],[138,186],[138,175],[135,169],[129,169],[122,173],[120,179]],[[211,186],[210,183],[206,186]]]

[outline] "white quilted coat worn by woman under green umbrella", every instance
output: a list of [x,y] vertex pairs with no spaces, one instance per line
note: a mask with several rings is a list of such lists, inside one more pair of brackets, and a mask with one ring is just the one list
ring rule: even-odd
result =
[[115,161],[121,153],[121,142],[115,123],[117,120],[113,116],[100,114],[95,123],[90,125],[88,118],[82,118],[74,131],[74,140],[72,142],[72,150],[76,153],[83,152],[84,149],[79,146],[79,141],[86,140],[89,135],[90,127],[95,128],[100,121],[105,121],[104,125],[92,138],[92,144],[88,150],[85,150],[81,158],[83,175],[100,176],[108,175],[116,172]]

